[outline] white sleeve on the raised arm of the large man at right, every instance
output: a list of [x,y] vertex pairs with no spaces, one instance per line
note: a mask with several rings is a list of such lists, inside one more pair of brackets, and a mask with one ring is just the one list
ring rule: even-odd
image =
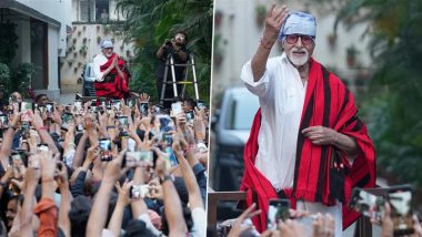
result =
[[262,99],[267,96],[269,84],[270,84],[270,76],[269,76],[268,70],[265,70],[264,74],[258,82],[254,82],[251,61],[249,61],[247,62],[247,64],[243,65],[240,78],[247,85],[247,89],[252,94]]

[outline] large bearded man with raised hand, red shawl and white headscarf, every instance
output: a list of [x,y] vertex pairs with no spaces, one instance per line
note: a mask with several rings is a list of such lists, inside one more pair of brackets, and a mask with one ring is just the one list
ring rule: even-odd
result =
[[[289,198],[293,208],[331,214],[341,236],[342,221],[346,227],[358,215],[342,210],[351,187],[375,183],[372,141],[352,93],[311,58],[315,37],[313,16],[272,6],[258,50],[241,73],[261,106],[244,150],[241,185],[247,205],[258,202],[263,210],[253,219],[260,231],[267,228],[269,199]],[[269,59],[278,40],[283,53]]]

